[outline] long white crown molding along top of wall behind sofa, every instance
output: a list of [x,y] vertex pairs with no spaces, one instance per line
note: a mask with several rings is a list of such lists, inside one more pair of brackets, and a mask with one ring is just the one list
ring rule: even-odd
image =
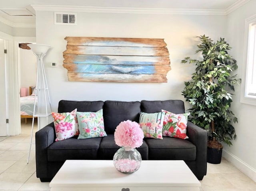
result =
[[126,14],[192,14],[226,15],[225,10],[208,9],[165,9],[165,8],[122,8],[92,6],[31,5],[36,11],[90,12],[90,13],[126,13]]

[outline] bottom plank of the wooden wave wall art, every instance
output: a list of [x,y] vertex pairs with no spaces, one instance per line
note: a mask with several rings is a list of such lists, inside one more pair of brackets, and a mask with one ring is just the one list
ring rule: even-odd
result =
[[92,74],[92,73],[68,73],[69,81],[88,82],[143,82],[166,83],[165,75],[159,74]]

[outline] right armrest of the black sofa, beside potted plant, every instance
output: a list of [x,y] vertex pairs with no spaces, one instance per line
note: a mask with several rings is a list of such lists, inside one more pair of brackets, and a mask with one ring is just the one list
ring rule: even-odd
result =
[[187,136],[196,146],[196,167],[198,176],[206,175],[207,170],[207,131],[188,121]]

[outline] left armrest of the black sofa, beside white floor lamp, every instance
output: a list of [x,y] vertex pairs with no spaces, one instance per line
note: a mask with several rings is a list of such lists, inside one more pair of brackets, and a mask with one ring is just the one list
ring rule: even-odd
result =
[[54,123],[36,132],[36,176],[47,177],[47,148],[54,142]]

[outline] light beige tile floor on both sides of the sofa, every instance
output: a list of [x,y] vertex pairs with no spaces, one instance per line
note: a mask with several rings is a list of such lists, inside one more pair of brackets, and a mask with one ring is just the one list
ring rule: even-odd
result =
[[[50,191],[49,183],[36,177],[35,145],[27,164],[31,119],[18,136],[0,137],[0,191]],[[37,126],[34,127],[34,133]],[[34,134],[33,133],[33,134]],[[34,136],[33,136],[34,143]],[[256,183],[224,158],[220,164],[207,164],[201,191],[256,191]]]

